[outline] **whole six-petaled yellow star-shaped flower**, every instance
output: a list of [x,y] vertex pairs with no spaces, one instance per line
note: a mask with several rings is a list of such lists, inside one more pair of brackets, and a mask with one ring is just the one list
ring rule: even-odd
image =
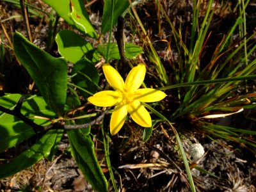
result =
[[166,94],[152,88],[140,88],[146,74],[146,67],[143,63],[132,68],[124,80],[120,74],[111,67],[103,65],[104,75],[115,91],[102,91],[95,93],[88,101],[99,107],[115,106],[110,120],[110,132],[116,134],[124,125],[127,113],[132,120],[142,127],[151,127],[151,117],[141,102],[156,102],[164,99]]

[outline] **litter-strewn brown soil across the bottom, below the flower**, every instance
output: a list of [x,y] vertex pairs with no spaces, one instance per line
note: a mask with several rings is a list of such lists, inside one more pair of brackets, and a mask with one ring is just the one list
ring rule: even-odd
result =
[[[116,184],[121,191],[190,191],[188,180],[177,153],[172,131],[155,131],[147,143],[143,143],[142,131],[137,129],[125,146],[111,150],[111,163],[115,168]],[[196,132],[184,134],[184,148],[189,154]],[[115,138],[118,143],[124,138]],[[189,141],[191,139],[191,141]],[[67,141],[67,138],[63,138]],[[132,140],[132,141],[131,141]],[[236,148],[225,140],[203,138],[203,157],[190,164],[196,191],[256,191],[255,152],[248,148]],[[72,156],[64,152],[68,143],[61,142],[53,161],[44,159],[31,168],[12,177],[0,180],[4,191],[93,191],[77,168]],[[98,154],[99,159],[102,157]],[[189,157],[189,156],[188,156]],[[108,169],[102,164],[108,178]],[[122,186],[120,184],[122,183]],[[114,191],[110,186],[109,191]]]

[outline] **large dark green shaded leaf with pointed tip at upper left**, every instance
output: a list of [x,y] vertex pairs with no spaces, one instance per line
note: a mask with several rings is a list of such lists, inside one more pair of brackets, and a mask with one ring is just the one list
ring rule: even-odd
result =
[[18,32],[13,35],[13,46],[15,55],[28,70],[45,102],[61,116],[67,97],[67,62],[42,51]]

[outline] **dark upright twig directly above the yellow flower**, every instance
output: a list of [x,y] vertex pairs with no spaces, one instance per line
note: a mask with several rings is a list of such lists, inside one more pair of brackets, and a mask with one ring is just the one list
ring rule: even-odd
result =
[[123,17],[118,17],[117,30],[115,32],[116,43],[120,54],[120,59],[123,65],[129,65],[129,60],[125,57],[125,44],[124,44],[124,24]]

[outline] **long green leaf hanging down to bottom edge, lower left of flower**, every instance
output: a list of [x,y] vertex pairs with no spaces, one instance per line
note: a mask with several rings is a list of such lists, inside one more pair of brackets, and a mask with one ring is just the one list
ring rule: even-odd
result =
[[79,129],[68,131],[68,139],[77,166],[93,189],[108,191],[108,182],[99,166],[94,152],[93,141]]

